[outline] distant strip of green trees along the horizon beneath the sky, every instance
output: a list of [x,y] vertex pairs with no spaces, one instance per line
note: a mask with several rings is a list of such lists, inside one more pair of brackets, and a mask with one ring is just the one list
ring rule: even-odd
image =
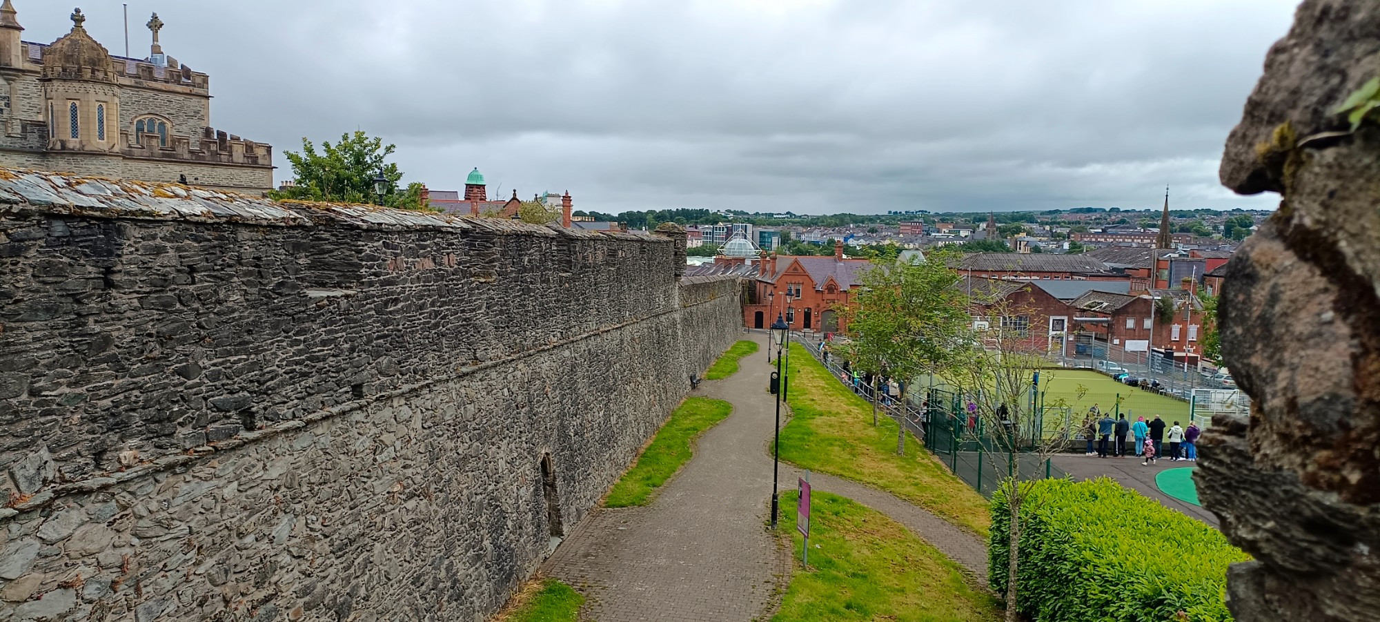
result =
[[[1155,224],[1158,224],[1159,210],[1123,210],[1121,207],[1072,207],[1067,210],[1045,210],[1045,211],[998,211],[992,214],[998,224],[1012,224],[1012,223],[1042,223],[1053,221],[1058,223],[1057,216],[1061,214],[1125,214],[1119,218],[1112,218],[1111,224],[1138,224],[1143,214],[1155,214]],[[1174,218],[1196,218],[1202,216],[1216,216],[1216,214],[1231,214],[1231,213],[1249,213],[1242,209],[1232,210],[1212,210],[1212,209],[1195,209],[1195,210],[1169,210],[1169,216]],[[575,210],[574,216],[589,216],[595,220],[602,221],[617,221],[624,223],[629,228],[640,229],[643,227],[651,229],[661,223],[675,223],[680,225],[707,225],[718,223],[751,223],[756,227],[773,227],[773,225],[798,225],[798,227],[849,227],[849,225],[897,225],[903,221],[925,221],[926,224],[936,223],[954,223],[954,224],[973,224],[981,225],[987,223],[988,214],[983,211],[920,211],[920,213],[890,213],[890,214],[795,214],[791,211],[784,211],[785,218],[776,216],[777,213],[748,213],[741,210],[726,210],[724,213],[707,210],[707,209],[672,209],[672,210],[646,210],[646,211],[622,211],[620,214],[606,214],[602,211],[584,211]],[[1052,218],[1054,217],[1054,218]],[[1132,217],[1136,217],[1133,220]],[[1078,224],[1081,221],[1071,221],[1070,224]]]

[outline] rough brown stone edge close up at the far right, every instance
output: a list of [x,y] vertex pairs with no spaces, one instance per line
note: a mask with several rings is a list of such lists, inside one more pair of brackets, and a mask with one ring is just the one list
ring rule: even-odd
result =
[[1252,413],[1214,419],[1198,475],[1256,558],[1228,575],[1238,622],[1380,611],[1380,127],[1336,112],[1376,76],[1380,6],[1304,1],[1223,156],[1228,188],[1283,196],[1227,264],[1223,354]]

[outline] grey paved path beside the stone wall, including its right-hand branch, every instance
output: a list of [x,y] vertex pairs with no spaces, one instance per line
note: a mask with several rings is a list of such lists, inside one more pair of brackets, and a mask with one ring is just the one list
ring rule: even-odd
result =
[[[765,334],[744,339],[766,347]],[[542,574],[586,596],[582,619],[753,621],[780,604],[791,553],[766,529],[773,369],[759,350],[738,373],[705,381],[697,394],[731,402],[733,415],[700,437],[690,463],[647,507],[595,509],[546,560]],[[788,413],[781,415],[784,422]],[[796,477],[795,467],[781,464],[780,489],[795,489]],[[890,516],[985,585],[987,552],[976,536],[862,484],[822,473],[811,473],[810,482]]]

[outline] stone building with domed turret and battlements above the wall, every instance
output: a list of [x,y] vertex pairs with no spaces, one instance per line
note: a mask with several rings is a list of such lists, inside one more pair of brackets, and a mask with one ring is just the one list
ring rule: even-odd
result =
[[149,19],[149,57],[115,57],[72,12],[72,32],[25,41],[0,4],[0,166],[184,182],[259,195],[273,188],[269,145],[211,126],[210,79],[167,55]]

